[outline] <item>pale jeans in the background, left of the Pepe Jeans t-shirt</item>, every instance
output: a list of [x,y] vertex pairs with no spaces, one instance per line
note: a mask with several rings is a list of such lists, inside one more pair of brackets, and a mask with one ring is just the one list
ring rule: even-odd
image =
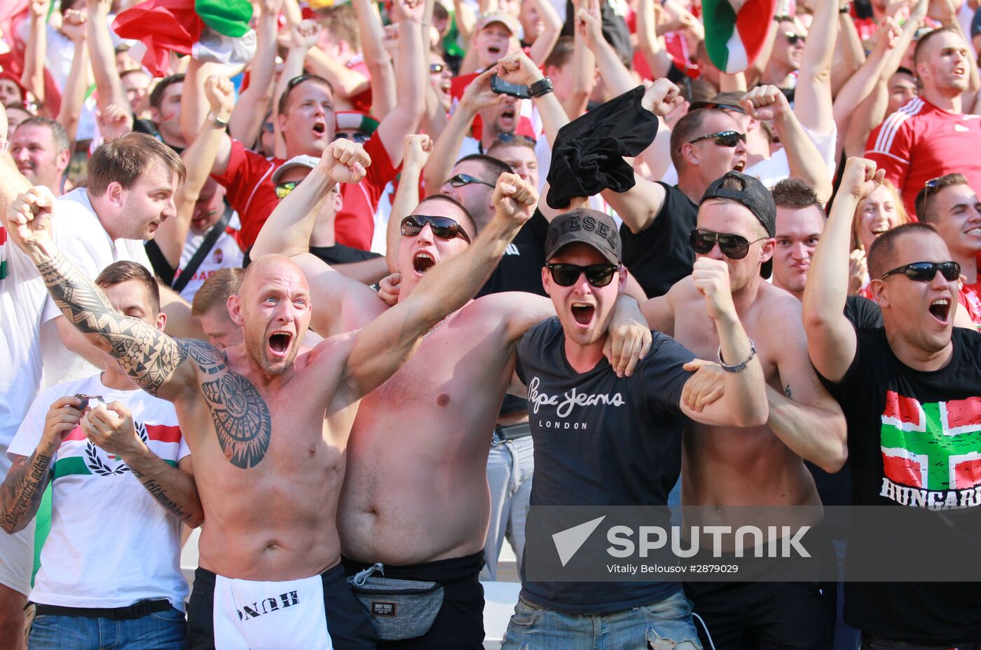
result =
[[525,552],[525,520],[528,518],[534,472],[535,446],[531,436],[490,445],[490,527],[484,543],[488,564],[481,571],[483,580],[497,579],[497,558],[505,536],[514,549],[517,566],[521,567],[521,555]]

